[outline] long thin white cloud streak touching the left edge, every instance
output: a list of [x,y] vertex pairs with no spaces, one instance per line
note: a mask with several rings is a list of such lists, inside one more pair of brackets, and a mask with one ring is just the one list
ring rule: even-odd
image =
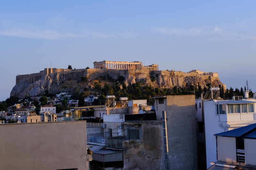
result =
[[12,36],[31,39],[56,40],[62,37],[79,37],[75,34],[60,34],[56,31],[25,31],[25,30],[0,30],[0,36]]

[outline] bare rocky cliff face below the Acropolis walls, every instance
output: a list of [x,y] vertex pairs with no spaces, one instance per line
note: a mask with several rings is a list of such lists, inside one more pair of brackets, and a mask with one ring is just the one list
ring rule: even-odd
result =
[[[23,75],[24,76],[24,75]],[[48,75],[43,75],[38,80],[31,83],[30,78],[22,79],[13,87],[10,95],[17,95],[20,98],[25,96],[38,96],[43,95],[45,90],[49,93],[59,93],[67,90],[62,83],[65,81],[78,81],[81,77],[87,76],[89,82],[95,80],[100,76],[118,79],[119,76],[124,77],[126,85],[129,83],[143,82],[144,84],[152,85],[153,87],[166,87],[172,88],[174,86],[184,87],[186,84],[197,85],[198,82],[202,87],[207,83],[213,86],[222,86],[218,77],[208,75],[199,75],[196,72],[183,73],[175,71],[149,71],[148,69],[141,70],[107,70],[107,69],[77,69],[67,72],[54,72]],[[16,78],[17,79],[17,78]],[[226,85],[224,85],[226,89]],[[68,87],[73,90],[72,86]]]

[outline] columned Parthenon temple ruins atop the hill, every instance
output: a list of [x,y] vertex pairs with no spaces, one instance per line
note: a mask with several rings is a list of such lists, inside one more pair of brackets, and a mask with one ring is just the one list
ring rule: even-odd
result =
[[140,68],[148,68],[150,70],[158,70],[159,67],[157,64],[152,64],[149,66],[143,66],[142,62],[125,62],[125,61],[106,61],[93,62],[94,69],[115,69],[115,70],[137,70]]

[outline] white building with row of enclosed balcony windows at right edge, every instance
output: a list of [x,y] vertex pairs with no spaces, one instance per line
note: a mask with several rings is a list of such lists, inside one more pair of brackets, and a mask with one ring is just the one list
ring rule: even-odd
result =
[[242,96],[234,96],[233,100],[204,100],[204,129],[206,163],[217,157],[216,133],[225,132],[255,123],[255,99],[243,99]]

